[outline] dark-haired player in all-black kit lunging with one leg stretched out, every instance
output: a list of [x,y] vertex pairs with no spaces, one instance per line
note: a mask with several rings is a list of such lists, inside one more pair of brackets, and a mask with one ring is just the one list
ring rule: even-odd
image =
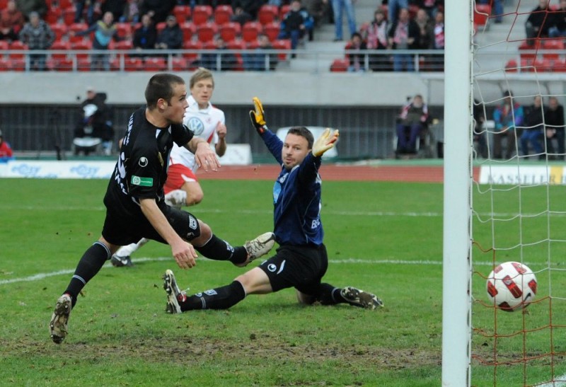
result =
[[275,243],[272,233],[264,233],[245,246],[232,247],[194,215],[165,204],[163,184],[173,141],[194,153],[205,171],[216,171],[220,165],[207,141],[193,137],[190,129],[182,125],[187,108],[182,78],[173,74],[152,76],[145,98],[146,106],[129,118],[108,183],[102,236],[83,254],[67,289],[57,300],[50,321],[51,338],[57,344],[67,336],[69,314],[79,292],[120,246],[142,237],[168,243],[178,266],[187,269],[195,266],[195,250],[207,258],[245,266],[269,252]]

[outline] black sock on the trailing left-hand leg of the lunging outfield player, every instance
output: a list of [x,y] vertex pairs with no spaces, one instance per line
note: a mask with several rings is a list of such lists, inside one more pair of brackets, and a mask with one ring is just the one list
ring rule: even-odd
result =
[[67,290],[64,293],[71,296],[72,306],[76,304],[76,297],[85,287],[86,283],[90,281],[100,267],[103,267],[104,262],[110,259],[110,250],[103,245],[103,243],[95,242],[93,246],[88,248],[83,254],[83,258],[76,265],[75,274],[71,278],[71,282],[67,286]]

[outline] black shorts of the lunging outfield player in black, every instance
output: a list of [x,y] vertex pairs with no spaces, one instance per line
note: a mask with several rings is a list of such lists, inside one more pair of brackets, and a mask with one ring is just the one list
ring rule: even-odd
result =
[[[185,241],[191,241],[200,236],[200,226],[196,216],[169,206],[165,206],[162,211],[173,230]],[[125,218],[116,216],[108,210],[104,219],[102,236],[106,241],[117,246],[137,243],[141,238],[167,243],[145,216],[142,215],[136,219]]]

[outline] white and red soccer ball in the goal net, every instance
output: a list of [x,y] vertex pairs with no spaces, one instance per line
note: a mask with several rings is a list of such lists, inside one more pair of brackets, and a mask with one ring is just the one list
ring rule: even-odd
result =
[[487,296],[502,311],[512,312],[529,306],[536,294],[536,277],[519,262],[504,262],[487,277]]

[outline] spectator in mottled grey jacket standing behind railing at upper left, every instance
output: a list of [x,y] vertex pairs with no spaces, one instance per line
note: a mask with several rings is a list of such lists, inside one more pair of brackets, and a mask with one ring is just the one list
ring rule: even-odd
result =
[[[55,41],[51,27],[40,19],[40,14],[30,13],[30,21],[25,23],[20,31],[20,40],[28,45],[30,50],[47,50]],[[30,54],[30,69],[45,71],[47,54]]]

